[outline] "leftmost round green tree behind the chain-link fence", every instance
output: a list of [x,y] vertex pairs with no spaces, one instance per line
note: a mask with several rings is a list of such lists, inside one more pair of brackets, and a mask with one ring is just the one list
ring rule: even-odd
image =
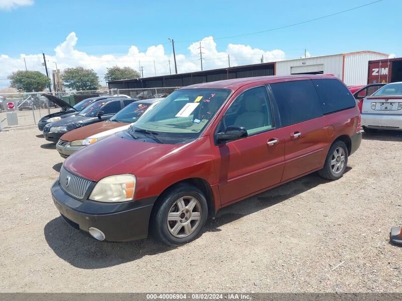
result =
[[50,78],[39,71],[18,70],[8,78],[10,85],[21,92],[40,92],[50,85]]

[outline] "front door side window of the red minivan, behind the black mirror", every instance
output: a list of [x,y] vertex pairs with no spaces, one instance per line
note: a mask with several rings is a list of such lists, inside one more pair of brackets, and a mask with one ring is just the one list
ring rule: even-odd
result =
[[219,131],[229,126],[244,127],[248,135],[273,128],[271,106],[264,86],[249,89],[235,99],[225,113]]

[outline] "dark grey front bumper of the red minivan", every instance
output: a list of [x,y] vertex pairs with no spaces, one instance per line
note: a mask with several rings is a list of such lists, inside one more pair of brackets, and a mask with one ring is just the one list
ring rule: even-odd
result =
[[107,241],[130,241],[146,238],[156,197],[125,203],[84,201],[68,195],[57,180],[51,187],[53,202],[62,218],[76,230],[88,233],[96,228]]

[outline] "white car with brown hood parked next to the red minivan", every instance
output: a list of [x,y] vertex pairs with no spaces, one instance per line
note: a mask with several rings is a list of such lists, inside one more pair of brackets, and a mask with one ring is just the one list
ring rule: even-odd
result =
[[145,112],[152,109],[162,99],[163,98],[151,98],[132,103],[107,121],[94,123],[67,132],[60,137],[56,144],[56,149],[60,156],[67,158],[69,155],[87,145],[128,129],[130,125],[137,122]]

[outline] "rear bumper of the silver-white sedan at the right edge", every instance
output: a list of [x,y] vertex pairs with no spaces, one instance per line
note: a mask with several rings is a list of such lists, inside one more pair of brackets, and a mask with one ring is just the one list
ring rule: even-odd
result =
[[402,130],[402,114],[361,114],[363,128]]

